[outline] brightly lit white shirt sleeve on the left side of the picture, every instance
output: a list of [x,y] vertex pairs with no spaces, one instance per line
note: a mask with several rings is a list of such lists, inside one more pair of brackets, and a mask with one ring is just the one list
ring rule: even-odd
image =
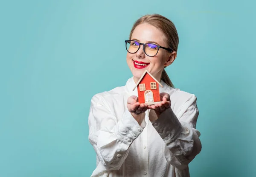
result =
[[117,118],[99,95],[91,100],[88,124],[89,142],[106,170],[121,168],[131,143],[145,127],[145,122],[140,126],[127,109]]

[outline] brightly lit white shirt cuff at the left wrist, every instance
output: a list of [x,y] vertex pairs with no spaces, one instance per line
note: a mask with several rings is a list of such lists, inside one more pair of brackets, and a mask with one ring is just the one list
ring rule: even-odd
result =
[[[144,125],[144,123],[142,124]],[[138,124],[131,115],[131,112],[125,110],[122,118],[118,122],[118,126],[116,126],[116,135],[122,142],[131,144],[140,135],[144,127]]]

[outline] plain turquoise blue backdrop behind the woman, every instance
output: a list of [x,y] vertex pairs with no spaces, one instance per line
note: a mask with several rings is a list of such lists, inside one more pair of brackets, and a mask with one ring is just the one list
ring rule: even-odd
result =
[[125,39],[159,13],[180,37],[166,68],[198,97],[202,151],[192,177],[256,173],[256,23],[253,0],[0,3],[0,177],[89,177],[90,99],[131,77]]

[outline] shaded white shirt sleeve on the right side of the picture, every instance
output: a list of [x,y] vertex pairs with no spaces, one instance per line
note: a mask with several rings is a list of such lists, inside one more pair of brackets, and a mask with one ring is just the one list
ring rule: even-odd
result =
[[166,160],[177,169],[185,169],[201,152],[200,132],[195,128],[198,119],[197,98],[192,95],[177,112],[171,108],[163,112],[152,122],[166,143]]

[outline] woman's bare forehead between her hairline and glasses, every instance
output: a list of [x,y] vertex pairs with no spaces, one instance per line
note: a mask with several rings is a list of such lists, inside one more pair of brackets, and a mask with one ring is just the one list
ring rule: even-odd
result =
[[133,34],[131,35],[131,39],[138,39],[140,42],[148,42],[154,41],[157,42],[159,45],[165,45],[165,35],[162,31],[154,27],[153,25],[149,25],[147,23],[143,23],[138,25],[135,29]]

